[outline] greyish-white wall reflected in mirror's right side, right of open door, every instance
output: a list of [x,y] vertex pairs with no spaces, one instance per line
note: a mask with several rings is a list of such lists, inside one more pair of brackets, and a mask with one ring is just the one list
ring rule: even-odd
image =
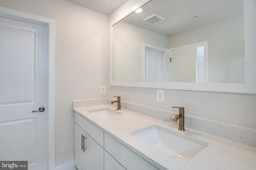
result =
[[244,14],[168,37],[169,48],[208,40],[208,82],[244,82]]

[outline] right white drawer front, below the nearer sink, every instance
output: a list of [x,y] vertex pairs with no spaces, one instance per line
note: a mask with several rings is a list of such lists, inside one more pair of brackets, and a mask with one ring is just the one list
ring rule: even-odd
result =
[[104,138],[104,149],[127,170],[158,170],[108,134]]

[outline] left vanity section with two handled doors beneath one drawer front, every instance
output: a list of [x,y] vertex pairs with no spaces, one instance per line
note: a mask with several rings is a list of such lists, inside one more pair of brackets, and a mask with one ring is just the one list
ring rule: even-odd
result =
[[[75,113],[74,124],[76,168],[78,170],[104,170],[103,131],[77,113]],[[99,143],[102,143],[102,146]]]

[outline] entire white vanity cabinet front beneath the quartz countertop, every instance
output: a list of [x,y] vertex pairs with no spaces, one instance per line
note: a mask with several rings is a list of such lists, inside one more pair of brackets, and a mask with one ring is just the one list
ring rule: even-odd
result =
[[78,170],[158,170],[76,112],[74,124]]

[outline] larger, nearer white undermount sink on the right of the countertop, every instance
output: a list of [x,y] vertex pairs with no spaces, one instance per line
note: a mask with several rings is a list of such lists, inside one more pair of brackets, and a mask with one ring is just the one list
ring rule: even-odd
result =
[[158,125],[146,127],[138,131],[131,132],[130,134],[185,162],[188,162],[207,145],[209,145],[209,143],[188,137],[187,135],[186,138],[184,138],[183,134],[165,129]]

